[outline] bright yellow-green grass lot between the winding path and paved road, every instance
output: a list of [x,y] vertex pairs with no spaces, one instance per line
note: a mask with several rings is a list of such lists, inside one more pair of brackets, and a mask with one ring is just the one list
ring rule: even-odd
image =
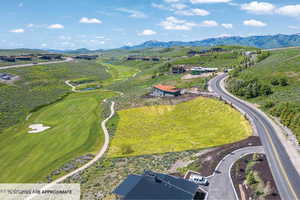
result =
[[249,123],[238,111],[202,97],[177,105],[120,110],[118,117],[109,157],[201,149],[251,135]]

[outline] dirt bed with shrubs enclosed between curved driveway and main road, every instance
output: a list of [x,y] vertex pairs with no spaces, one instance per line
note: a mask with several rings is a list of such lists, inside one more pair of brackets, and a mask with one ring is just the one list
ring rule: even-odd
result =
[[[250,180],[249,173],[255,174],[252,184],[246,181]],[[281,199],[264,154],[250,154],[238,160],[231,169],[231,177],[240,199]]]

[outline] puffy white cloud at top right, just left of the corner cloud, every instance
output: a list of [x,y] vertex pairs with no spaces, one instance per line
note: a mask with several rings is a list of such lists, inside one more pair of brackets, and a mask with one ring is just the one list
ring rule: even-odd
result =
[[246,10],[254,14],[271,14],[275,8],[276,7],[271,3],[257,1],[252,1],[250,3],[241,5],[242,10]]

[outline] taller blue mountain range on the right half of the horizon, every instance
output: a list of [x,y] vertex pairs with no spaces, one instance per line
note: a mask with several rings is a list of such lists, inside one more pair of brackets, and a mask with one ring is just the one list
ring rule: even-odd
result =
[[170,41],[161,42],[151,40],[135,46],[124,46],[121,49],[138,50],[144,48],[168,48],[174,46],[216,46],[216,45],[240,45],[240,46],[252,46],[262,49],[272,49],[281,47],[300,46],[300,34],[293,35],[265,35],[265,36],[249,36],[249,37],[220,37],[210,38],[199,41],[181,42]]

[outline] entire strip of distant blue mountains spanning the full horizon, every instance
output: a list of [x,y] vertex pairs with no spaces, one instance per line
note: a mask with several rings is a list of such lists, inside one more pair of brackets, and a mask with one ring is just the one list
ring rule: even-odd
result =
[[[239,46],[252,46],[262,49],[273,49],[273,48],[282,48],[282,47],[300,47],[300,33],[293,35],[265,35],[265,36],[249,36],[249,37],[219,37],[219,38],[210,38],[199,41],[191,42],[182,42],[182,41],[170,41],[170,42],[161,42],[157,40],[150,40],[135,46],[124,46],[117,49],[110,50],[139,50],[145,48],[168,48],[175,46],[218,46],[218,45],[239,45]],[[110,51],[108,50],[108,51]],[[98,54],[106,50],[89,50],[86,48],[75,49],[75,50],[56,50],[56,49],[10,49],[2,51],[16,51],[16,52],[52,52],[52,53],[68,53],[68,54]],[[0,49],[0,54],[1,49]]]

